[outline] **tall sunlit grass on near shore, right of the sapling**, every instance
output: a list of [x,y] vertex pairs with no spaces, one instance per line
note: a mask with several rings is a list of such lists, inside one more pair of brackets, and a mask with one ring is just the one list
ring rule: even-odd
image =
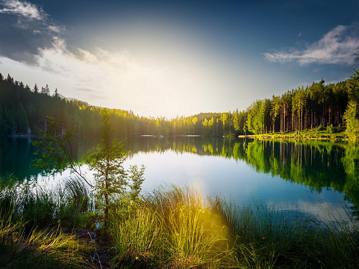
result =
[[264,202],[239,207],[218,197],[204,198],[188,187],[158,187],[145,194],[143,203],[125,219],[113,213],[110,235],[118,268],[359,265],[359,228],[354,219],[331,216],[318,222]]

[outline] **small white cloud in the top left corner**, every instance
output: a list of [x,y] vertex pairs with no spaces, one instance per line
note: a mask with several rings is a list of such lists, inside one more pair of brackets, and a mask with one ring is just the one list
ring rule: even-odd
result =
[[3,8],[0,9],[0,13],[17,14],[35,20],[43,20],[47,16],[42,8],[38,8],[35,4],[27,1],[1,0],[0,3],[3,6]]

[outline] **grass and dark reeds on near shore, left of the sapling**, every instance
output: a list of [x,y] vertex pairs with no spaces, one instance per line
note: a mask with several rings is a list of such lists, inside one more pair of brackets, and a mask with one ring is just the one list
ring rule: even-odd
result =
[[88,210],[87,189],[74,180],[48,190],[35,182],[0,183],[0,268],[89,268],[90,245],[61,229]]

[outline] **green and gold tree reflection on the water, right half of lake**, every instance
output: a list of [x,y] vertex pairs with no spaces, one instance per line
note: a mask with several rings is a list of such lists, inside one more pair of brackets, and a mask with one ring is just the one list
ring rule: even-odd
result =
[[127,141],[129,154],[190,152],[241,160],[258,173],[304,184],[318,193],[323,188],[344,192],[359,210],[359,144],[352,141],[309,139],[235,139],[215,137],[137,137]]

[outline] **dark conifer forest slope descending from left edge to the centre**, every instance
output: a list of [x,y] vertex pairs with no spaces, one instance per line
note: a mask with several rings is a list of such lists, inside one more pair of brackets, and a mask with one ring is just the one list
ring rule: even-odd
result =
[[[76,127],[82,136],[100,136],[101,108],[83,101],[61,98],[57,89],[50,95],[48,85],[40,90],[22,82],[14,81],[8,75],[0,74],[0,132],[2,135],[38,134],[46,130],[49,118],[54,118],[62,134],[68,128]],[[171,122],[165,118],[145,118],[132,111],[108,109],[111,115],[114,135],[125,137],[141,134],[169,134]]]

